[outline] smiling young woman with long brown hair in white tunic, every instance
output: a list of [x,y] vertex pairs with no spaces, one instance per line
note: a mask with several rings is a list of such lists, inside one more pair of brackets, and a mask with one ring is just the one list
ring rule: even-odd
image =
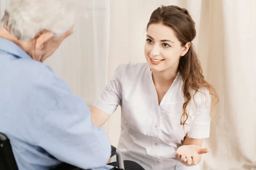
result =
[[[184,8],[161,6],[147,25],[147,63],[121,64],[91,108],[102,126],[122,108],[118,148],[146,170],[198,170],[218,96],[192,45],[195,23]],[[215,100],[216,99],[216,100]]]

